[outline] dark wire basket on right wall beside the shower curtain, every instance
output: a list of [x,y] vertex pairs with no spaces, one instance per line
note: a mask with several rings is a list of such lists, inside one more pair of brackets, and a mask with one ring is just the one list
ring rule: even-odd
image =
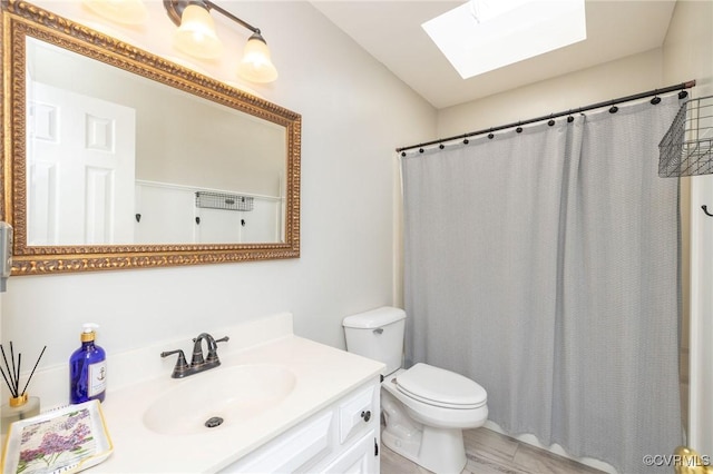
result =
[[713,174],[713,96],[690,99],[658,144],[662,178]]

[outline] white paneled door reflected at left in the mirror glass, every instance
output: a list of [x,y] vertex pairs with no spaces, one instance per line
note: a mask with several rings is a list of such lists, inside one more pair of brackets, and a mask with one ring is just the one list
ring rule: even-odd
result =
[[130,243],[135,110],[28,86],[28,245]]

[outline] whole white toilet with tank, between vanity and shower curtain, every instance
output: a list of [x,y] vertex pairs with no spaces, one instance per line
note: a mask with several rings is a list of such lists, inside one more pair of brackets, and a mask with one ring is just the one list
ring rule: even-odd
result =
[[406,312],[381,307],[343,320],[346,350],[383,362],[381,409],[384,445],[438,474],[466,465],[463,429],[488,418],[488,394],[453,372],[416,364],[401,367]]

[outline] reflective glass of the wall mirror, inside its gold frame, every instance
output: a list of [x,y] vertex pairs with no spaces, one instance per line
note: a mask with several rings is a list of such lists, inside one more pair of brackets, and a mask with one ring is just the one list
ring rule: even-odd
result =
[[284,241],[285,127],[26,48],[28,246]]

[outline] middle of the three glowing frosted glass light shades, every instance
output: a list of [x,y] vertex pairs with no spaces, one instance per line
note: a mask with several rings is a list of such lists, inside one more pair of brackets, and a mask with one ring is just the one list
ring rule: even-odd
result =
[[216,59],[223,52],[223,45],[215,33],[211,13],[198,4],[189,4],[180,17],[180,27],[174,34],[176,49],[194,58]]

